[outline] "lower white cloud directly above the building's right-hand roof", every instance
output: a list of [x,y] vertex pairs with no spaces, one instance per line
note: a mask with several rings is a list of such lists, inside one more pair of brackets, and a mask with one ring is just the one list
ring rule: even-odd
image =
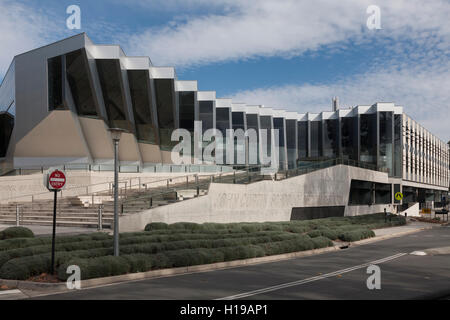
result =
[[394,102],[445,141],[450,140],[450,61],[432,65],[391,65],[326,85],[284,85],[244,90],[232,96],[299,113],[331,110],[331,97],[342,107]]

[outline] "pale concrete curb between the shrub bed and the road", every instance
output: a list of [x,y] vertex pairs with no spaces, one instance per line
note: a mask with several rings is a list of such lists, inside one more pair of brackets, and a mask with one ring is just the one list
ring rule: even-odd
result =
[[[138,273],[129,273],[123,275],[117,275],[112,277],[104,277],[104,278],[95,278],[95,279],[87,279],[81,281],[82,289],[89,289],[92,287],[98,286],[107,286],[122,282],[129,281],[138,281],[138,280],[146,280],[146,279],[154,279],[154,278],[163,278],[163,277],[171,277],[184,275],[189,273],[197,273],[197,272],[208,272],[214,270],[223,270],[230,269],[242,266],[256,265],[262,263],[270,263],[277,262],[283,260],[289,260],[294,258],[308,257],[328,252],[339,251],[344,247],[352,247],[352,246],[360,246],[365,244],[370,244],[377,241],[387,240],[390,238],[401,237],[407,234],[416,233],[419,231],[431,229],[432,227],[423,227],[414,230],[408,230],[404,232],[398,232],[394,234],[384,235],[373,237],[369,239],[359,240],[355,242],[342,243],[339,245],[334,245],[327,248],[321,249],[313,249],[307,251],[297,251],[291,253],[284,253],[279,255],[265,256],[259,258],[250,258],[243,260],[234,260],[227,262],[218,262],[212,264],[204,264],[198,266],[190,266],[190,267],[179,267],[179,268],[169,268],[169,269],[160,269],[160,270],[152,270],[146,272],[138,272]],[[27,292],[31,296],[37,295],[45,295],[45,294],[53,294],[53,293],[62,293],[72,291],[67,289],[66,283],[42,283],[42,282],[32,282],[32,281],[22,281],[22,280],[6,280],[0,279],[0,285],[7,285],[8,287],[17,288],[19,290],[31,291]],[[33,291],[36,291],[36,294],[33,294]]]

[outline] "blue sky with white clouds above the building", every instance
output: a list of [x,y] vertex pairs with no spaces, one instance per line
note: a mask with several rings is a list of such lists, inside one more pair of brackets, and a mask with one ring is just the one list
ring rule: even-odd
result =
[[[66,8],[81,8],[68,30]],[[381,9],[381,30],[366,9]],[[78,32],[175,66],[218,97],[298,112],[392,101],[450,140],[447,0],[0,0],[0,77],[15,54]]]

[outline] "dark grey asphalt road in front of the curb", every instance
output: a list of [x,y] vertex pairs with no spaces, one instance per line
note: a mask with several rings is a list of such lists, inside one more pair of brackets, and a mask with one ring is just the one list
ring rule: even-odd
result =
[[[450,255],[411,255],[450,246],[450,227],[311,257],[132,281],[36,299],[435,299],[450,295]],[[369,264],[381,289],[367,288]]]

